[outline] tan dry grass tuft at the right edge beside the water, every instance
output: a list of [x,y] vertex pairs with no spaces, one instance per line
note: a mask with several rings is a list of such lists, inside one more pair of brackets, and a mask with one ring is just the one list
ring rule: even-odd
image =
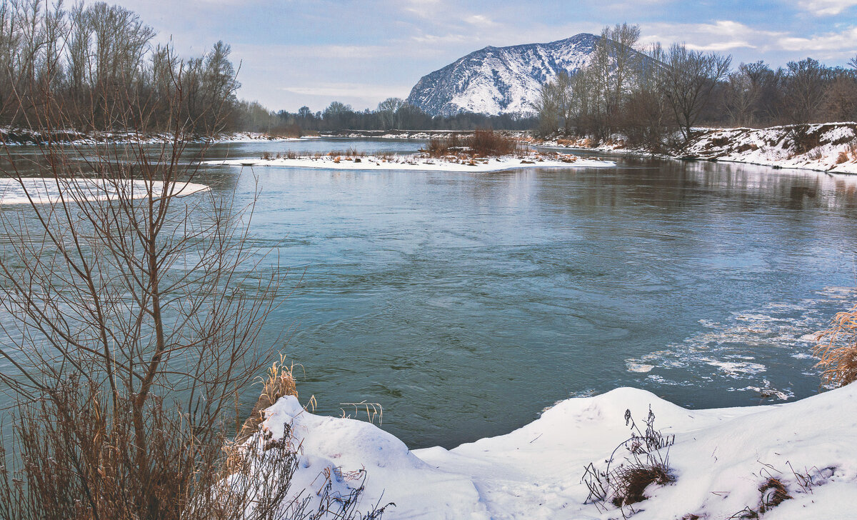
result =
[[826,331],[818,332],[812,353],[824,368],[823,384],[845,386],[857,380],[857,306],[836,314]]

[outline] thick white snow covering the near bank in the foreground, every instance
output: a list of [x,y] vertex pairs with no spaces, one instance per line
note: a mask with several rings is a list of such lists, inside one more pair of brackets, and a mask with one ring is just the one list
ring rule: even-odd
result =
[[[292,444],[300,446],[293,490],[306,489],[316,499],[324,475],[334,475],[334,492],[345,495],[360,485],[362,478],[354,475],[365,469],[359,509],[395,502],[385,519],[621,518],[614,505],[584,504],[588,490],[581,476],[590,462],[603,469],[628,438],[625,410],[642,423],[650,406],[656,429],[675,435],[669,451],[675,480],[647,488],[650,498],[636,504],[634,513],[626,506],[626,515],[753,517],[741,515],[758,513],[760,487],[772,477],[792,498],[759,517],[857,515],[857,384],[794,403],[706,410],[620,388],[562,401],[512,433],[451,451],[409,451],[369,422],[313,415],[291,396],[266,410],[263,427],[277,437],[291,424]],[[627,455],[623,450],[616,451],[617,461]]]

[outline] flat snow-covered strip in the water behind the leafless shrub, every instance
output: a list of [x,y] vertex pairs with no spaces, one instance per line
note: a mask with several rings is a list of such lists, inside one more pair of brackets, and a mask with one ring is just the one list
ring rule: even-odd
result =
[[[163,185],[155,183],[152,192],[155,197],[161,196]],[[177,182],[172,194],[184,196],[207,191],[204,184],[194,182]],[[103,179],[53,179],[53,178],[23,178],[0,179],[0,205],[29,204],[32,199],[37,204],[49,204],[60,200],[61,194],[66,200],[111,200],[117,192],[130,193],[133,198],[141,199],[148,196],[147,185],[144,181],[125,181],[123,184],[105,182]]]

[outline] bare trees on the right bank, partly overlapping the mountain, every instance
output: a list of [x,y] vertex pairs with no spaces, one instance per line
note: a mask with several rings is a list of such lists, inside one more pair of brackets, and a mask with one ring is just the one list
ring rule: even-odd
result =
[[542,85],[536,134],[597,141],[622,134],[631,146],[674,149],[695,126],[768,127],[857,118],[857,57],[850,68],[812,58],[771,69],[764,62],[638,45],[638,26],[605,27],[590,63]]

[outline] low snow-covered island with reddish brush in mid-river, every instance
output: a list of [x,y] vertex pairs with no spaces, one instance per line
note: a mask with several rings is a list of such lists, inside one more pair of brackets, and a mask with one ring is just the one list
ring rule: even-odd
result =
[[205,164],[231,166],[279,166],[286,168],[323,168],[325,170],[415,170],[415,171],[489,171],[515,170],[519,168],[597,168],[616,164],[612,161],[578,158],[560,155],[555,158],[503,156],[496,158],[457,159],[428,158],[420,154],[381,157],[297,157],[297,158],[238,158],[206,161]]

